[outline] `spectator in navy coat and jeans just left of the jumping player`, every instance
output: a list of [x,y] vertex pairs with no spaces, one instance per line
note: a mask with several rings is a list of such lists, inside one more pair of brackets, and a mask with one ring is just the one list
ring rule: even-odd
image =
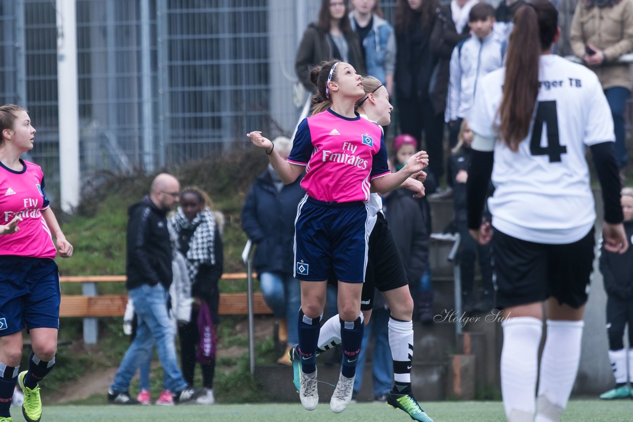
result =
[[[291,140],[278,137],[273,144],[287,158]],[[299,342],[297,313],[301,307],[301,289],[299,280],[292,276],[292,248],[297,205],[306,194],[301,179],[284,185],[268,164],[253,183],[242,208],[242,229],[257,245],[254,267],[260,277],[261,293],[278,319],[279,340],[286,344],[286,349]],[[278,362],[290,364],[288,350]]]

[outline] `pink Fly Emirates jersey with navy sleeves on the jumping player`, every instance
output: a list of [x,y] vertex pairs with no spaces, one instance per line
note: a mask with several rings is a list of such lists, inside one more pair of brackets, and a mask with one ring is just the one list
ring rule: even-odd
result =
[[325,202],[367,202],[370,180],[389,174],[380,126],[331,109],[301,121],[288,161],[306,166],[301,187]]

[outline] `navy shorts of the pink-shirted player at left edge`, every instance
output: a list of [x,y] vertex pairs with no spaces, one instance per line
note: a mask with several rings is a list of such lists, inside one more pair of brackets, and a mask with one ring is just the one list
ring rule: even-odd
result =
[[50,258],[0,256],[0,337],[60,328],[60,273]]

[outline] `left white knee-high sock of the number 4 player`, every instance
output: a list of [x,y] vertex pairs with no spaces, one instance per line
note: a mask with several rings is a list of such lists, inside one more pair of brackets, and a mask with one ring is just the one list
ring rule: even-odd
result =
[[542,321],[520,316],[504,321],[501,394],[509,422],[532,422]]

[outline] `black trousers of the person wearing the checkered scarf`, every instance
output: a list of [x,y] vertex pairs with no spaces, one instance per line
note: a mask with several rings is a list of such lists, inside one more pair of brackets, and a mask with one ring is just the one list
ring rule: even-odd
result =
[[[187,325],[178,327],[180,338],[180,366],[182,376],[189,385],[194,385],[194,371],[196,370],[196,346],[199,342],[197,328],[197,309],[191,310],[191,321]],[[213,315],[212,315],[213,316]],[[216,316],[213,316],[216,318]],[[214,321],[215,322],[215,321]],[[208,365],[200,365],[202,368],[202,382],[204,388],[213,388],[213,376],[215,375],[215,358]]]

